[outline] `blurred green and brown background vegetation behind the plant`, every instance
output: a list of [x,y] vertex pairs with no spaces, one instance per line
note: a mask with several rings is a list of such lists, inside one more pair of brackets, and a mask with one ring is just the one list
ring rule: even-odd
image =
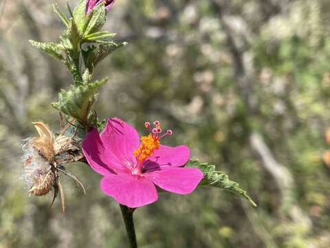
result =
[[[57,0],[68,14],[65,0]],[[0,1],[0,247],[128,247],[120,209],[87,165],[67,165],[65,216],[21,180],[32,121],[59,130],[50,103],[71,75],[32,48],[63,30],[52,1]],[[76,1],[70,0],[71,6]],[[330,247],[329,0],[118,0],[105,30],[126,48],[95,109],[142,133],[159,120],[192,158],[227,172],[259,205],[220,189],[162,194],[135,211],[140,247]]]

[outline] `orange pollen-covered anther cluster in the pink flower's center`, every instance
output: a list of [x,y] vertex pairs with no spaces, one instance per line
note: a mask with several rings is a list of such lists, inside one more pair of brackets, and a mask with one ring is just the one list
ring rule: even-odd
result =
[[140,146],[133,152],[133,154],[139,163],[143,163],[146,158],[153,155],[155,149],[159,149],[159,145],[159,139],[153,136],[153,134],[142,136]]

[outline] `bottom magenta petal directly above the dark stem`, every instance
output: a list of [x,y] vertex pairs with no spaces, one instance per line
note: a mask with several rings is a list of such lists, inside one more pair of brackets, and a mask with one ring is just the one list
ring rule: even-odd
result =
[[143,176],[109,174],[100,181],[102,192],[127,207],[142,207],[158,199],[155,185]]

